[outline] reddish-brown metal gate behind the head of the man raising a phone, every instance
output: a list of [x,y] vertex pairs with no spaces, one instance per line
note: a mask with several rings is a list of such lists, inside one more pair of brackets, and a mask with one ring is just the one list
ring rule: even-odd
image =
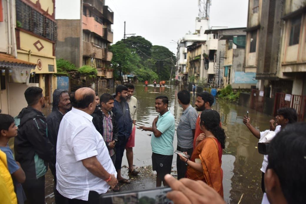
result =
[[297,111],[298,121],[304,121],[306,96],[276,93],[274,116],[276,116],[277,110],[283,107],[294,108]]

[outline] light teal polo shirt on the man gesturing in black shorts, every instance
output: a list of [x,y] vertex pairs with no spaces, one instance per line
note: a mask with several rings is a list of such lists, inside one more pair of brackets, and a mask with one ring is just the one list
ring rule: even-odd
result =
[[156,127],[162,133],[160,137],[152,134],[152,152],[162,155],[173,155],[173,138],[175,130],[174,116],[168,110],[162,116],[159,114]]

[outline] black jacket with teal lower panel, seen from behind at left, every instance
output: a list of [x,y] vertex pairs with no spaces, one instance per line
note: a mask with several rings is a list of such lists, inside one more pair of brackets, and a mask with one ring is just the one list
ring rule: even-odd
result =
[[26,179],[38,179],[47,172],[53,156],[48,140],[47,121],[42,112],[28,106],[23,108],[15,123],[18,135],[14,140],[15,159],[21,164]]

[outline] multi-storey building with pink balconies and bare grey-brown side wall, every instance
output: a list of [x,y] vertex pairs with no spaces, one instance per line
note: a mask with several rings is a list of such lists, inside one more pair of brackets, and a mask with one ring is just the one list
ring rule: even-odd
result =
[[108,50],[108,45],[113,43],[111,24],[114,12],[102,0],[76,2],[80,5],[69,11],[73,17],[65,17],[63,14],[64,3],[57,5],[62,13],[56,17],[56,56],[72,62],[77,68],[83,65],[96,68],[98,80],[107,79],[107,84],[111,86],[113,70],[109,65],[113,54]]

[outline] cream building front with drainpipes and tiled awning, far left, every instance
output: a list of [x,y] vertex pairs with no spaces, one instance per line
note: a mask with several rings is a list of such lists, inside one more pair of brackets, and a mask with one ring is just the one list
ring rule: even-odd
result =
[[24,91],[38,86],[29,83],[36,63],[17,59],[15,1],[0,0],[0,7],[0,112],[15,117],[27,106]]

